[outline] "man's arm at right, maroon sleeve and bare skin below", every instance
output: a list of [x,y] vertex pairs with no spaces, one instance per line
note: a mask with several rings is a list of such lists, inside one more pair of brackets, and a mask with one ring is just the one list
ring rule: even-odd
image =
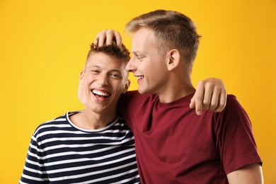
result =
[[251,121],[235,96],[217,119],[217,149],[229,183],[263,183],[263,164],[258,154]]

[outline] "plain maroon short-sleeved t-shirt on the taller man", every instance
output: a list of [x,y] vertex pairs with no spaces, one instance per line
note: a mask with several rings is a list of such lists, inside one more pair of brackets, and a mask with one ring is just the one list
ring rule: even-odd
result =
[[226,174],[262,161],[248,115],[228,96],[222,113],[198,116],[192,95],[160,103],[156,95],[129,91],[119,113],[134,132],[142,183],[228,183]]

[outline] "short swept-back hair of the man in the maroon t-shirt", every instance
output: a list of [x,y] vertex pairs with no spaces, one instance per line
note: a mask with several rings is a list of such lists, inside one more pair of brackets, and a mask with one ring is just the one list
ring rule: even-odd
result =
[[185,58],[188,69],[197,55],[200,35],[192,20],[177,11],[156,10],[133,18],[125,29],[135,33],[140,28],[149,28],[154,31],[156,43],[161,54],[176,49]]

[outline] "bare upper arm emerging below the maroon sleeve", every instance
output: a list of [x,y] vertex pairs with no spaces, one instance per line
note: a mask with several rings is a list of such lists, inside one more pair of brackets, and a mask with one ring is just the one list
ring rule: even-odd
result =
[[230,184],[257,184],[263,183],[263,172],[259,163],[243,166],[227,174]]

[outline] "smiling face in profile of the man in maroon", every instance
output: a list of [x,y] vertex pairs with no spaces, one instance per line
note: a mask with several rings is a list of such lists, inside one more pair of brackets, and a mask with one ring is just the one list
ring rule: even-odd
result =
[[161,57],[155,42],[154,32],[147,28],[142,28],[133,34],[132,59],[126,69],[137,77],[138,91],[141,94],[162,93],[168,82],[167,58]]

